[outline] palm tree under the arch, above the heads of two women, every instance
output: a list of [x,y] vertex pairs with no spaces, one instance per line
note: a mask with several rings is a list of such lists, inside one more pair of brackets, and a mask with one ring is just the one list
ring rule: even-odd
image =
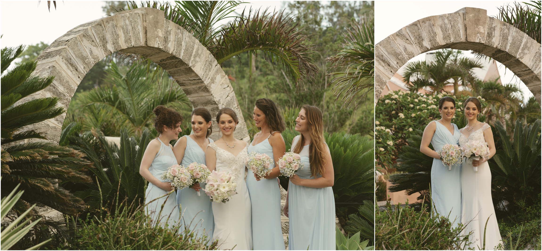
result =
[[452,83],[456,94],[460,84],[467,86],[474,82],[472,69],[482,68],[481,63],[461,54],[460,50],[437,50],[433,61],[410,62],[405,68],[404,81],[413,83],[410,91],[429,87],[433,93],[444,91],[444,87]]

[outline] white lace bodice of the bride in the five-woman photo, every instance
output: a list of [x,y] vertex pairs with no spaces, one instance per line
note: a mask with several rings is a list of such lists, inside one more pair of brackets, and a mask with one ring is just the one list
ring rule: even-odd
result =
[[[248,144],[235,156],[233,153],[218,147],[215,143],[209,144],[209,147],[216,151],[216,170],[230,173],[235,182],[244,181],[244,158],[248,157],[247,146]],[[240,178],[241,174],[242,178]]]

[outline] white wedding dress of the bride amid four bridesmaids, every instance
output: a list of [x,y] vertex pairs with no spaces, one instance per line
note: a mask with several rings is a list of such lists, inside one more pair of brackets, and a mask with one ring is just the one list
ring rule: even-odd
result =
[[231,196],[229,201],[212,203],[212,214],[215,219],[212,239],[218,239],[220,249],[252,250],[250,196],[244,181],[244,158],[248,156],[247,146],[234,156],[233,153],[221,149],[215,143],[209,144],[209,147],[216,151],[216,170],[229,172],[237,183],[237,194]]

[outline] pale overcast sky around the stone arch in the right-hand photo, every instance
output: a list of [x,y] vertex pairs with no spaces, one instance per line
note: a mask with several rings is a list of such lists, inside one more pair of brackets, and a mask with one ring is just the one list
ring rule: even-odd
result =
[[[497,7],[512,1],[377,1],[375,2],[375,41],[382,41],[387,36],[397,32],[406,25],[421,18],[453,13],[464,7],[474,7],[487,10],[488,16],[498,14]],[[380,11],[383,10],[383,11]],[[425,54],[418,55],[409,62],[425,60]],[[505,66],[497,62],[502,83],[519,84],[524,100],[533,94],[519,78]]]

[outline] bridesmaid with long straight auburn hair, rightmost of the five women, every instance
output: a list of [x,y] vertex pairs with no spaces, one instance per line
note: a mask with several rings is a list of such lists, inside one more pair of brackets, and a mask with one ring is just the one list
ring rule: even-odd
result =
[[295,119],[292,150],[305,165],[290,178],[284,214],[289,217],[289,250],[335,250],[334,172],[324,140],[322,112],[304,105]]

